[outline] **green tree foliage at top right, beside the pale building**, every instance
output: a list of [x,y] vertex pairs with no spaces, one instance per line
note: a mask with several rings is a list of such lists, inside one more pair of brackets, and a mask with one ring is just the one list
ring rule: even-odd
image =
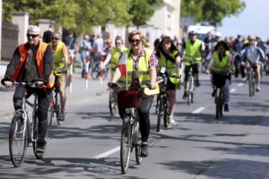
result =
[[181,17],[193,16],[197,22],[218,26],[225,17],[237,15],[245,7],[240,0],[181,0]]

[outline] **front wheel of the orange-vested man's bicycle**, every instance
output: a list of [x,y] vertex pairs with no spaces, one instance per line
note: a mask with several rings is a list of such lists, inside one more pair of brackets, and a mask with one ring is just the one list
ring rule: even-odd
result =
[[27,149],[27,125],[23,119],[13,116],[9,132],[9,153],[13,166],[22,166]]

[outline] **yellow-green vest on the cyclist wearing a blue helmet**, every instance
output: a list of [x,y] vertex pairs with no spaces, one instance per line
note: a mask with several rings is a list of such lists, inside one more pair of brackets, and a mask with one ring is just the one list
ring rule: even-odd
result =
[[201,61],[202,55],[200,52],[200,47],[202,45],[202,41],[199,39],[195,40],[195,43],[192,44],[189,39],[186,41],[186,49],[185,49],[185,56],[184,56],[184,64],[191,65],[197,64]]

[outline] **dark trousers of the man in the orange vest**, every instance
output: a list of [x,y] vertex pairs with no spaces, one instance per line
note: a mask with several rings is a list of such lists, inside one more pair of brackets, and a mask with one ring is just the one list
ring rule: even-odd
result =
[[39,118],[39,143],[45,143],[45,137],[48,132],[48,107],[51,99],[51,91],[45,89],[32,89],[24,86],[18,86],[13,95],[15,110],[22,108],[22,98],[29,98],[32,93],[38,95],[38,118]]

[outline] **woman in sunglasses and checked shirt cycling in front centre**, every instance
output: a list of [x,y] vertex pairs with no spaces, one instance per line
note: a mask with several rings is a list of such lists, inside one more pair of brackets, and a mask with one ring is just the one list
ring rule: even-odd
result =
[[[120,58],[116,71],[112,77],[111,83],[117,82],[120,86],[130,86],[132,79],[138,80],[142,86],[147,83],[151,84],[152,89],[155,87],[158,61],[152,51],[143,47],[145,39],[143,34],[134,30],[128,35],[128,42],[131,48],[123,52]],[[126,72],[127,71],[127,72]],[[132,75],[129,75],[131,74]],[[142,135],[141,156],[148,156],[148,138],[151,129],[150,123],[150,108],[152,107],[153,96],[142,99],[141,107],[139,108],[140,130]],[[125,109],[119,109],[119,115],[123,118]]]

